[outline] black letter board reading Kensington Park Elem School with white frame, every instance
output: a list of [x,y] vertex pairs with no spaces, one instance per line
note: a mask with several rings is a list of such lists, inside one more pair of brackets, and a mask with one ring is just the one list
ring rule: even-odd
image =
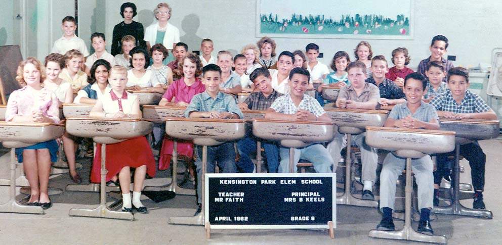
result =
[[205,174],[205,222],[220,229],[328,228],[336,175]]

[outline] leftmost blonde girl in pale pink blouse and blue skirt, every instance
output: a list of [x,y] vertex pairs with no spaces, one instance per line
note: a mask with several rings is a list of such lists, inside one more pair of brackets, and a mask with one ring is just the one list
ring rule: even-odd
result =
[[[19,64],[16,80],[23,86],[9,96],[5,120],[12,122],[59,123],[58,98],[51,90],[42,86],[46,78],[44,66],[33,57]],[[40,142],[24,148],[16,148],[19,163],[30,185],[28,206],[52,207],[49,199],[49,175],[51,162],[56,162],[58,143],[56,140]]]

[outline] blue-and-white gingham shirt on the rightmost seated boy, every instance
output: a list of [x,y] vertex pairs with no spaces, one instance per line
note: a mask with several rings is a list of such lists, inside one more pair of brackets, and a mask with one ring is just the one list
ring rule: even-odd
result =
[[429,104],[433,105],[438,111],[446,111],[453,113],[479,113],[487,112],[490,107],[486,102],[481,99],[481,97],[468,89],[466,90],[466,95],[462,99],[460,105],[456,104],[451,90],[441,93],[434,97]]

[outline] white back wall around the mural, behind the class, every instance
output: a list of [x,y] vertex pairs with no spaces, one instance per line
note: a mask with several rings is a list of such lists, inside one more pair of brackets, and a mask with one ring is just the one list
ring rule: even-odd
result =
[[[122,21],[119,15],[120,5],[126,1],[106,1],[106,36],[111,38],[113,26]],[[131,1],[138,6],[140,15],[136,21],[145,19],[144,14],[155,8],[158,0]],[[246,43],[256,43],[256,1],[249,0],[179,0],[168,2],[173,8],[170,23],[180,29],[181,35],[187,28],[182,28],[183,20],[199,20],[199,27],[192,40],[211,38],[215,41],[215,52],[224,49],[240,51]],[[308,3],[308,1],[306,1]],[[100,6],[101,7],[101,6]],[[412,57],[410,67],[414,68],[420,60],[430,55],[429,45],[432,37],[442,34],[450,40],[448,55],[455,55],[455,65],[476,66],[480,62],[491,63],[491,51],[499,45],[498,37],[502,28],[498,28],[497,10],[502,8],[502,1],[469,0],[416,0],[415,29],[413,40],[369,40],[374,55],[385,55],[388,59],[392,50],[398,46],[407,47]],[[143,23],[145,28],[147,25]],[[190,27],[190,23],[184,23]],[[193,27],[193,26],[192,26]],[[339,50],[353,53],[359,39],[314,39],[314,38],[274,38],[277,42],[277,54],[284,50],[304,49],[310,42],[317,43],[324,53],[323,63]],[[199,50],[200,42],[189,41],[190,50]],[[390,59],[389,59],[390,61]],[[392,65],[392,64],[390,64]]]

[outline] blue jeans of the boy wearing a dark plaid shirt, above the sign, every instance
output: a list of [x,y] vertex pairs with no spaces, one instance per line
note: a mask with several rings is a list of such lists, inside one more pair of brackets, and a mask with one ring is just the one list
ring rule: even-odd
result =
[[[240,160],[237,162],[237,167],[244,173],[253,173],[254,164],[249,158],[250,155],[256,153],[256,138],[246,137],[237,142],[237,150],[239,150]],[[279,147],[277,143],[262,141],[262,147],[265,149],[267,158],[268,172],[277,173],[279,167]]]

